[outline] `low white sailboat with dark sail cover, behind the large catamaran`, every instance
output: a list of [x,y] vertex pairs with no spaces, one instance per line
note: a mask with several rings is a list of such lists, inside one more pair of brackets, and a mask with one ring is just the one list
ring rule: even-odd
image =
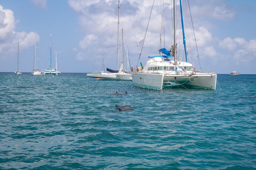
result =
[[[107,68],[109,73],[105,73],[104,71],[94,72],[92,74],[87,74],[87,77],[97,78],[97,80],[132,80],[132,74],[129,71],[124,70],[124,57],[120,68],[118,67],[119,60],[119,15],[120,15],[120,0],[118,1],[118,28],[117,28],[117,66],[116,70],[112,70]],[[124,35],[123,35],[124,37]],[[124,43],[123,43],[124,46]],[[124,53],[124,49],[123,49]],[[124,55],[124,54],[123,54]],[[128,63],[128,62],[127,62]],[[130,69],[130,67],[129,67]]]

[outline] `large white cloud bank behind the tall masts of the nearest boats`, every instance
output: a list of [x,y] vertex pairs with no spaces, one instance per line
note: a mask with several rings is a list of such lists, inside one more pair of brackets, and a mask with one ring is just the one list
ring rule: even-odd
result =
[[[195,3],[191,3],[190,7],[192,9],[191,12],[193,16],[193,21],[196,20],[194,22],[194,31],[196,34],[196,43],[200,58],[202,57],[205,60],[209,59],[209,61],[215,61],[219,59],[220,56],[220,52],[216,48],[216,45],[218,46],[219,39],[217,37],[214,37],[214,35],[211,33],[212,29],[214,28],[212,22],[211,25],[205,25],[205,22],[208,22],[209,19],[231,20],[235,17],[236,11],[229,9],[222,1],[219,1],[218,3],[215,3],[215,1],[213,0],[207,3],[198,2],[200,2],[200,0],[195,1]],[[76,12],[78,12],[78,21],[82,25],[84,31],[84,36],[80,40],[77,47],[76,60],[92,60],[92,55],[94,54],[92,61],[94,61],[94,64],[96,64],[97,60],[101,58],[103,53],[104,59],[106,59],[105,62],[111,60],[112,63],[115,63],[117,46],[117,2],[113,0],[97,0],[88,2],[84,2],[82,0],[68,0],[68,4]],[[199,6],[198,4],[201,5]],[[183,5],[185,4],[183,3]],[[121,28],[124,28],[125,42],[129,45],[131,62],[137,63],[141,48],[141,46],[137,47],[137,44],[141,39],[144,38],[146,26],[148,24],[148,16],[151,10],[151,1],[149,2],[148,0],[123,0],[121,1],[121,6],[122,8],[120,15],[122,20],[120,26]],[[171,9],[173,8],[173,5],[171,5],[170,3],[165,3],[164,6],[165,47],[169,48],[173,43],[173,20],[170,15],[171,12],[173,12],[173,10]],[[185,9],[185,6],[183,9]],[[179,7],[177,7],[177,10],[177,12],[179,12]],[[188,53],[192,56],[193,60],[195,60],[194,58],[196,58],[197,56],[197,51],[193,36],[192,24],[190,18],[188,18],[188,26],[187,18],[185,17],[186,16],[184,16],[184,20],[187,34],[186,38]],[[200,21],[198,20],[198,18],[200,18]],[[189,29],[187,29],[187,27],[189,27]],[[188,32],[190,34],[190,40],[188,37]],[[160,47],[160,33],[161,3],[155,2],[148,26],[148,32],[143,46],[143,51],[140,58],[141,62],[146,62],[147,57],[145,56],[158,55],[158,48]],[[93,39],[96,36],[97,39]],[[120,45],[122,44],[121,38],[122,36],[120,36],[119,39]],[[243,39],[234,39],[233,41],[235,41],[239,45],[242,45],[244,43]],[[178,45],[181,45],[181,49],[183,49],[182,30],[179,14],[177,15],[177,43]],[[192,48],[189,47],[190,45]],[[229,48],[233,49],[234,47],[230,45]],[[180,49],[179,46],[178,49]],[[183,55],[185,55],[184,50],[181,50],[181,56]],[[132,57],[134,58],[132,59]],[[107,63],[105,64],[107,65]]]

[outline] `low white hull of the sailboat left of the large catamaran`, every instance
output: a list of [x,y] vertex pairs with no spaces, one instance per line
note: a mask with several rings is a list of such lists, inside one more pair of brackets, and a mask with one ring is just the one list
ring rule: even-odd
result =
[[87,74],[87,77],[99,78],[99,80],[131,80],[132,74],[98,72],[98,73]]

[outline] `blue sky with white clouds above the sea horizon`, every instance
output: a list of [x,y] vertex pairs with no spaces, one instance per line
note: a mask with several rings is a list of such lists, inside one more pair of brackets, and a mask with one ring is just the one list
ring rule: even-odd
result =
[[[126,49],[128,45],[131,66],[138,63],[138,42],[144,39],[152,3],[153,0],[120,1],[120,56],[122,45]],[[100,71],[103,57],[105,68],[116,69],[117,5],[117,0],[1,0],[0,72],[16,71],[18,42],[19,70],[32,71],[35,35],[36,68],[48,68],[50,32],[52,65],[55,68],[57,53],[61,72]],[[188,62],[217,74],[256,74],[255,0],[183,0],[182,7]],[[176,8],[178,55],[185,60],[179,1]],[[139,62],[145,65],[148,56],[159,55],[160,47],[169,49],[172,44],[172,1],[155,0]]]

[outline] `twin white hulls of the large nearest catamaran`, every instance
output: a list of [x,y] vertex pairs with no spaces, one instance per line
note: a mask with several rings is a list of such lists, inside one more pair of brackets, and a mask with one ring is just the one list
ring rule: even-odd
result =
[[148,89],[163,89],[163,83],[174,82],[177,85],[199,89],[216,89],[217,74],[197,73],[193,75],[164,75],[151,73],[132,73],[135,86]]

